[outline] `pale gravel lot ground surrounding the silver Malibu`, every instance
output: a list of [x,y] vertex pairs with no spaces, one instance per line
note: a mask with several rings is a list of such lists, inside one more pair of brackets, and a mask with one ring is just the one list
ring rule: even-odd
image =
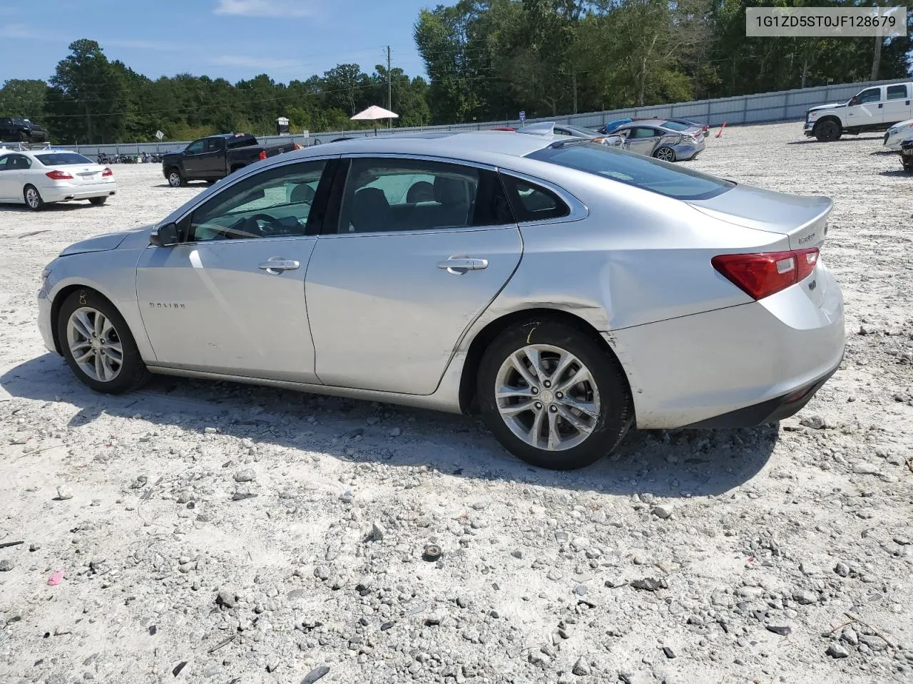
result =
[[844,364],[779,427],[640,432],[569,473],[473,418],[94,394],[41,344],[42,266],[205,186],[119,165],[104,207],[0,206],[0,680],[913,681],[913,176],[880,145],[708,139],[691,168],[834,198]]

